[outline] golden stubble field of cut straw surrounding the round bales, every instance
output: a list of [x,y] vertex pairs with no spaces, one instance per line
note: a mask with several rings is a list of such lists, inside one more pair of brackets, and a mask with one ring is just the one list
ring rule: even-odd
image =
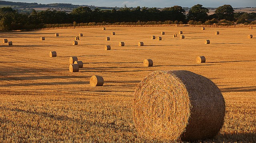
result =
[[[185,39],[172,37],[179,31]],[[73,46],[79,33],[84,36]],[[13,42],[0,46],[2,142],[151,142],[137,134],[131,107],[136,85],[156,70],[192,71],[222,91],[224,126],[214,139],[201,142],[256,142],[256,28],[76,28],[0,37]],[[105,51],[105,45],[111,50]],[[50,51],[57,57],[50,58]],[[82,60],[84,68],[70,73],[70,56]],[[196,63],[197,56],[205,56],[206,63]],[[154,66],[143,67],[144,59],[152,59]],[[104,86],[90,87],[92,75],[102,76]]]

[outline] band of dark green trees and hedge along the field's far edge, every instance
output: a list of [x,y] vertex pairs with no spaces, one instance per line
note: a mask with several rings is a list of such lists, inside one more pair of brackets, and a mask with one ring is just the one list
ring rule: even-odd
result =
[[[233,24],[250,23],[250,19],[256,19],[256,13],[234,13],[232,6],[223,5],[216,9],[215,13],[208,15],[209,10],[201,4],[193,6],[187,16],[181,6],[172,6],[158,10],[157,8],[120,8],[116,10],[94,10],[89,7],[74,8],[70,14],[65,11],[44,10],[32,13],[20,14],[10,7],[0,8],[0,30],[29,30],[46,28],[49,24],[79,24],[79,23],[120,23],[133,22],[156,23],[168,22],[177,24],[216,24],[218,22]],[[254,22],[255,23],[255,22]],[[252,22],[252,24],[254,24]],[[74,25],[75,26],[75,25]]]

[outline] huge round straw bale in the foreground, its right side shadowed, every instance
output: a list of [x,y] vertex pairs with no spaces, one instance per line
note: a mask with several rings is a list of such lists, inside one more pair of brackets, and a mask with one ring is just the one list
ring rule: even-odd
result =
[[136,87],[133,121],[149,139],[195,141],[214,137],[224,123],[225,101],[208,78],[190,71],[154,71]]

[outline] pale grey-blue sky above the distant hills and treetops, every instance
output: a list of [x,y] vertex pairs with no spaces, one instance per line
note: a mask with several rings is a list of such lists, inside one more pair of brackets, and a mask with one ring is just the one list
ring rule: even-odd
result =
[[12,2],[37,2],[38,4],[70,3],[79,5],[109,6],[109,7],[192,7],[202,4],[204,7],[216,8],[224,4],[230,4],[233,8],[256,7],[256,0],[6,0]]

